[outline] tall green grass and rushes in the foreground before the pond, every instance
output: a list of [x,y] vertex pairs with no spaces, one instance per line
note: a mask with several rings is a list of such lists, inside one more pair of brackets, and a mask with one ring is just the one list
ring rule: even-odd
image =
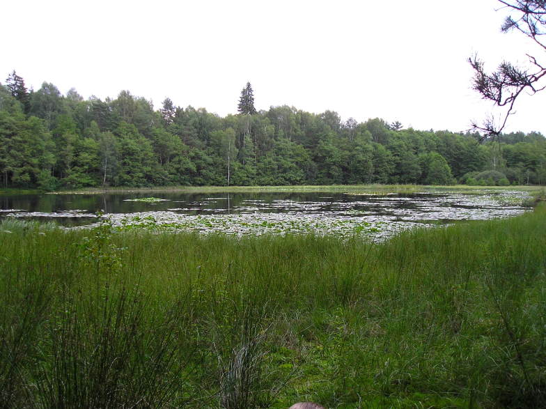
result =
[[546,208],[382,245],[0,226],[0,406],[546,404]]

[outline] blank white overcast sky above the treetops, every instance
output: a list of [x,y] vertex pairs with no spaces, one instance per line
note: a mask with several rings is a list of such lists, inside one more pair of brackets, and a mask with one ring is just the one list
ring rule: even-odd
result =
[[[469,56],[546,56],[500,33],[497,0],[29,1],[2,6],[0,82],[52,82],[88,98],[119,91],[235,114],[251,82],[257,109],[290,105],[465,131],[490,103],[471,90]],[[496,11],[498,10],[498,11]],[[546,134],[546,91],[517,102],[507,132]]]

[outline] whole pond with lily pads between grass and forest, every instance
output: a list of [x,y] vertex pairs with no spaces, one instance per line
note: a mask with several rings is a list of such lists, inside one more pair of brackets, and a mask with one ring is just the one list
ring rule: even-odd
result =
[[[153,195],[153,196],[152,196]],[[183,191],[0,195],[0,217],[96,224],[120,229],[218,232],[236,236],[316,233],[382,240],[403,229],[520,215],[527,192],[237,192]]]

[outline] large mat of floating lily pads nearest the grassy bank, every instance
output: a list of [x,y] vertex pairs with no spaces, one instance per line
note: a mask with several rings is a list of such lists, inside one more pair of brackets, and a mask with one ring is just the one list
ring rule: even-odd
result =
[[[414,194],[409,198],[358,196],[359,200],[330,202],[245,200],[234,207],[231,214],[225,214],[225,210],[220,209],[211,212],[212,214],[189,215],[185,213],[187,208],[180,208],[116,213],[104,217],[118,230],[193,231],[237,237],[312,233],[340,238],[359,236],[380,241],[403,230],[437,226],[439,222],[520,215],[525,208],[508,204],[513,196],[516,196],[513,192],[494,192],[481,195]],[[518,192],[517,197],[522,196],[526,197],[526,194]],[[274,210],[281,212],[275,213]]]

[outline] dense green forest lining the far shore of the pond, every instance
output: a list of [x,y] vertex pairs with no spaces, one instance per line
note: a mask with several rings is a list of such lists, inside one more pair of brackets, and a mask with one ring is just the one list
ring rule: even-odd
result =
[[14,71],[0,84],[0,186],[546,183],[537,132],[479,143],[335,111],[257,111],[250,84],[238,102],[238,114],[221,118],[169,98],[154,109],[129,91],[84,100],[47,82],[29,91]]

